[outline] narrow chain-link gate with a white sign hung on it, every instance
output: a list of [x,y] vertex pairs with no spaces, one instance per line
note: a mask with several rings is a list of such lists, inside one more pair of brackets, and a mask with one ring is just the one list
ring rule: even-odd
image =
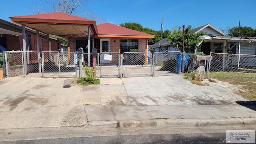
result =
[[100,77],[120,77],[119,52],[102,52],[100,54]]

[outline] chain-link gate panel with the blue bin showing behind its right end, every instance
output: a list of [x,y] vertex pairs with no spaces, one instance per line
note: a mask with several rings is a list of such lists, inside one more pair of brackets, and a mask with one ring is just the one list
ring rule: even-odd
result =
[[154,52],[153,75],[169,76],[180,74],[182,70],[182,52]]

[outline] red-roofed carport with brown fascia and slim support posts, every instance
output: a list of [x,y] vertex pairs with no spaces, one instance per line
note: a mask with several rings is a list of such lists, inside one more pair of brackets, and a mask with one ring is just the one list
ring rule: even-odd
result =
[[[61,12],[48,14],[35,14],[27,16],[12,16],[10,17],[13,23],[22,25],[22,44],[23,44],[23,62],[26,64],[26,33],[25,27],[36,30],[37,51],[40,51],[39,32],[46,34],[47,43],[49,43],[49,34],[58,35],[62,37],[70,36],[88,36],[88,54],[90,53],[90,36],[98,34],[96,22],[87,18],[72,16]],[[94,43],[94,42],[93,42]],[[70,42],[68,39],[68,51],[70,52]],[[68,54],[68,61],[70,61],[70,54]],[[88,55],[90,62],[90,56]],[[26,67],[24,67],[24,74],[26,74]]]

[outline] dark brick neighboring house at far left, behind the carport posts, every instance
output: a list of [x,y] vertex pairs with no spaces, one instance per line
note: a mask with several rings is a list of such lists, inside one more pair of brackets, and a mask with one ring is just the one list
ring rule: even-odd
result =
[[[47,44],[46,34],[40,33],[40,51],[57,51],[64,42],[58,38],[49,37]],[[36,30],[26,28],[26,44],[29,51],[37,51]],[[0,45],[6,50],[22,50],[22,27],[0,19]]]

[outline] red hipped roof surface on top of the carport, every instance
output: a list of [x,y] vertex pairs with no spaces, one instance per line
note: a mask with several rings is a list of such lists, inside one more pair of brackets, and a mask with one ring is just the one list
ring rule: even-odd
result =
[[32,18],[32,19],[46,19],[46,20],[78,20],[78,21],[94,21],[79,16],[73,16],[62,12],[54,12],[47,14],[34,14],[27,16],[11,16],[10,18]]

